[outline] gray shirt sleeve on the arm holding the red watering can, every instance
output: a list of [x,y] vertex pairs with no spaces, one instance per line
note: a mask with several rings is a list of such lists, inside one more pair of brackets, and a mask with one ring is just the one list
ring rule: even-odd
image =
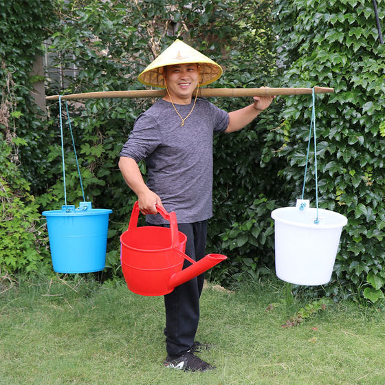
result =
[[133,130],[120,151],[120,156],[131,157],[135,162],[140,162],[151,155],[160,143],[157,122],[152,116],[142,113],[135,120]]

